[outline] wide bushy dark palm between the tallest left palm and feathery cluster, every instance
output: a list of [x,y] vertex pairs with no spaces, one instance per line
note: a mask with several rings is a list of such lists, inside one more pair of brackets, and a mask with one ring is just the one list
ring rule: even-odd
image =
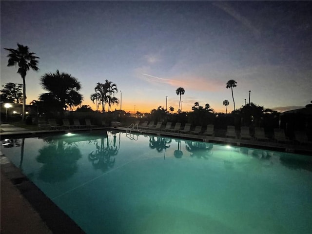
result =
[[67,73],[46,73],[40,78],[41,86],[49,93],[41,94],[40,100],[44,100],[46,97],[50,97],[58,101],[58,111],[62,115],[66,105],[70,108],[78,106],[83,97],[78,91],[81,88],[81,84],[77,78]]

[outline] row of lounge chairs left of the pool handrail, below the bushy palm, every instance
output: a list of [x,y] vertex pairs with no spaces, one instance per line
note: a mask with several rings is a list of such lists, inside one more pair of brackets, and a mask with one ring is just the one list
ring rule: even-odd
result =
[[39,121],[38,128],[39,130],[50,129],[50,130],[58,130],[58,129],[80,129],[80,128],[93,128],[97,127],[91,123],[90,119],[85,119],[85,125],[80,124],[78,119],[73,119],[73,124],[70,124],[68,119],[62,119],[63,124],[57,123],[55,118],[49,118],[48,122]]

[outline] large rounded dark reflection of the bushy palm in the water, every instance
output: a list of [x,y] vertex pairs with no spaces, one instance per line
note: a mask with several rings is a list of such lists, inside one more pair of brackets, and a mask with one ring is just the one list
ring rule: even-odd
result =
[[39,149],[39,156],[36,157],[39,163],[44,164],[38,178],[49,183],[64,181],[76,173],[77,161],[81,157],[78,147],[64,147],[63,140],[59,140],[58,145],[53,143]]

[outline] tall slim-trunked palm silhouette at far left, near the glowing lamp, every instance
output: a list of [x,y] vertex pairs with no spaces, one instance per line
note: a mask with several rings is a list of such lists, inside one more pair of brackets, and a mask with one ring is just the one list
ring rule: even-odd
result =
[[26,105],[26,82],[25,77],[27,71],[31,68],[34,71],[38,71],[38,63],[39,57],[35,56],[35,53],[29,52],[28,46],[23,46],[18,43],[18,49],[8,49],[4,48],[5,50],[10,51],[11,53],[7,56],[9,57],[8,60],[8,67],[10,66],[19,66],[18,73],[20,74],[23,80],[23,109],[22,109],[22,120],[25,119],[25,105]]

